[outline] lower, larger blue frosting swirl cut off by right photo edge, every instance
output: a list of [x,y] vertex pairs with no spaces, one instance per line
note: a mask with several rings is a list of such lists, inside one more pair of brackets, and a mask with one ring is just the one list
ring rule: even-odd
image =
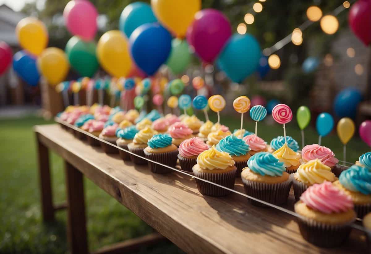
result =
[[368,168],[353,165],[341,172],[339,182],[347,190],[371,194],[371,170]]

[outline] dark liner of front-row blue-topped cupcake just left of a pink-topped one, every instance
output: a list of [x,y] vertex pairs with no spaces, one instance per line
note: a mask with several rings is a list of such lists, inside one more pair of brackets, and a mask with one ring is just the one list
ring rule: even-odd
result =
[[[146,158],[165,164],[169,167],[175,167],[175,165],[177,164],[178,149],[167,153],[148,153],[147,151],[144,150],[144,154]],[[148,161],[148,165],[150,166],[150,170],[153,173],[157,174],[164,174],[173,171],[170,168],[161,166],[151,161]]]

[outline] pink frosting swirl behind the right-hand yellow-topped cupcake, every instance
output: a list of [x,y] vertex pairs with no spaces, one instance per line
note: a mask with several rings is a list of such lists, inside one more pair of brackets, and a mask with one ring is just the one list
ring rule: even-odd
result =
[[328,167],[334,167],[339,160],[335,158],[335,154],[330,148],[320,146],[318,144],[307,145],[302,149],[302,158],[304,162],[319,159]]

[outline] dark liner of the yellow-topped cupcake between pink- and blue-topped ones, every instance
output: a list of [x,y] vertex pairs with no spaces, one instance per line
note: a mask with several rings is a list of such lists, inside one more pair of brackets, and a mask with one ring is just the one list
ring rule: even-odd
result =
[[[202,179],[211,181],[213,183],[225,186],[230,189],[234,189],[234,181],[236,180],[236,169],[227,171],[225,173],[204,173],[199,171],[193,171],[194,176],[200,177]],[[226,196],[230,194],[229,190],[217,187],[213,184],[206,183],[204,181],[196,180],[196,185],[198,191],[200,191],[201,194],[207,195],[207,196]]]

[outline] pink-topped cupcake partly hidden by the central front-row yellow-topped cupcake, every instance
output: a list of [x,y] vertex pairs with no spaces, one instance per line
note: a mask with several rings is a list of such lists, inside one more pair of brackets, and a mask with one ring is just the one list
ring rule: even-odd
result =
[[184,171],[192,172],[192,167],[197,163],[197,156],[210,147],[201,138],[193,137],[182,141],[179,145],[178,159]]

